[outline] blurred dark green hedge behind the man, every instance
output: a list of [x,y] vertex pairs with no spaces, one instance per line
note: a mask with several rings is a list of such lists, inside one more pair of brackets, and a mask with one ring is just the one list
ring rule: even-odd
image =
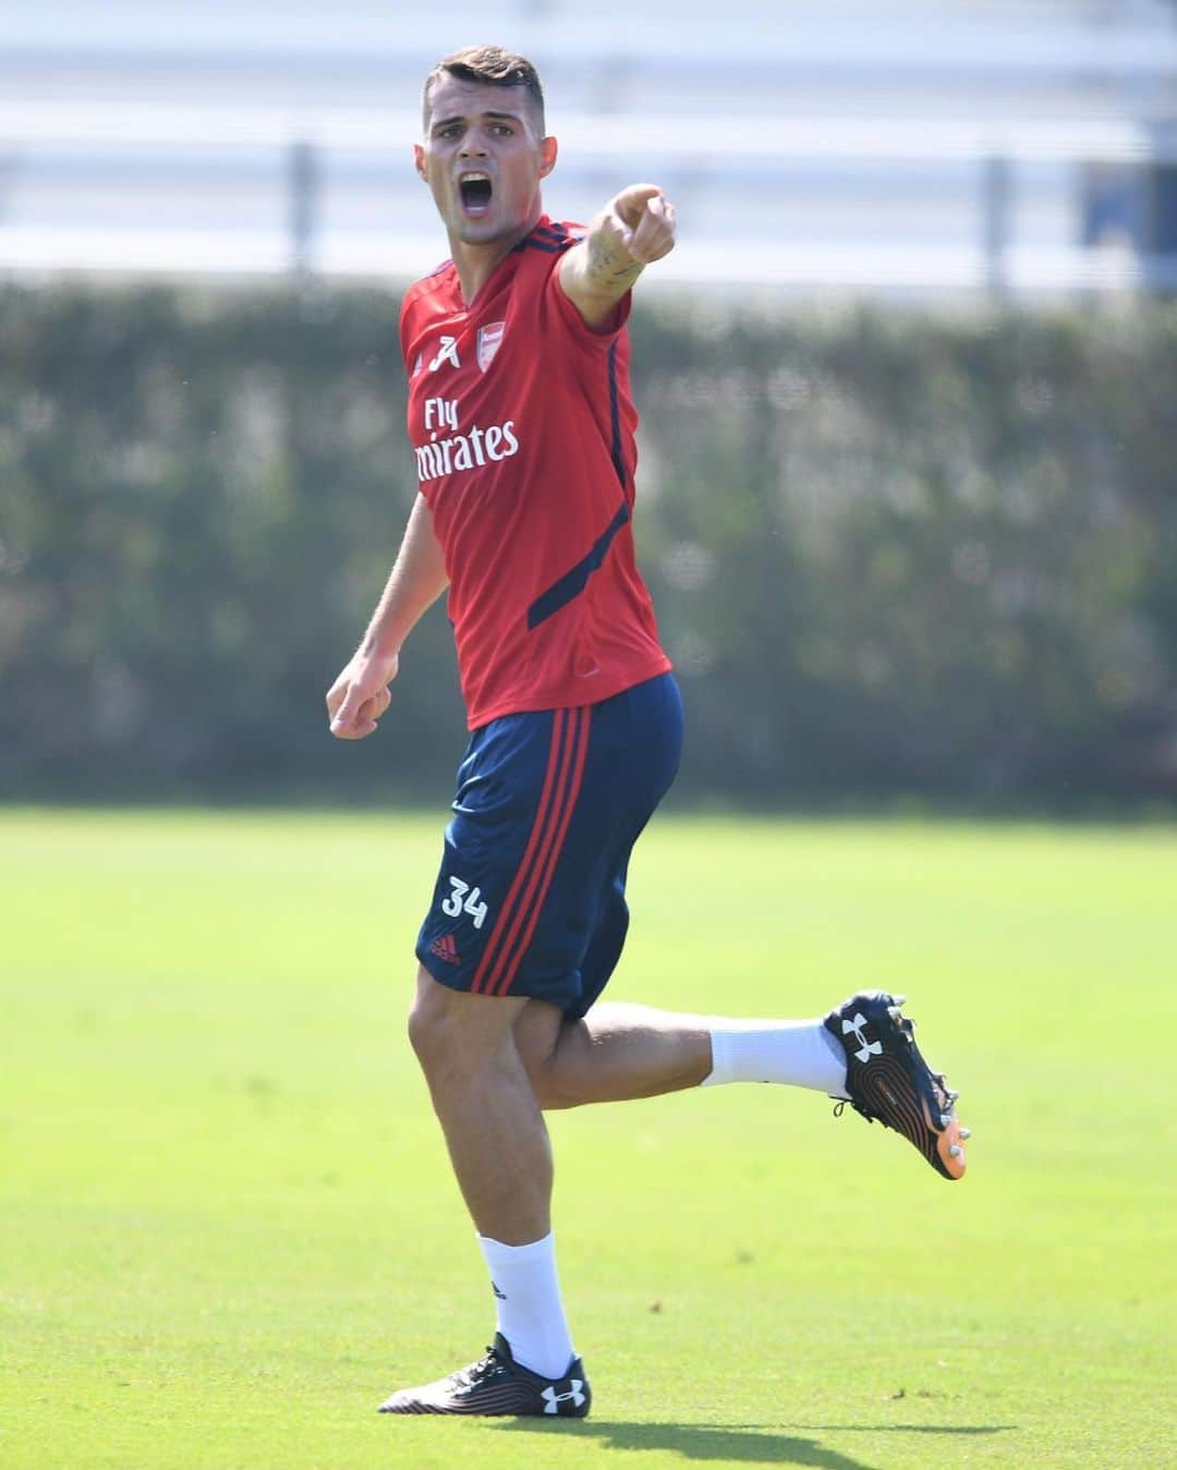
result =
[[[0,797],[435,801],[442,610],[323,694],[414,492],[397,297],[0,291]],[[635,313],[680,795],[1177,795],[1177,307]]]

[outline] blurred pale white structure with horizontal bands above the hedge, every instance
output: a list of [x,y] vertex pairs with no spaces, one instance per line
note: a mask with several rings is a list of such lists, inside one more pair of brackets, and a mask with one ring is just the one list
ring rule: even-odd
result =
[[545,76],[552,213],[673,194],[663,282],[1177,285],[1170,0],[7,0],[0,270],[426,269],[420,81],[482,40]]

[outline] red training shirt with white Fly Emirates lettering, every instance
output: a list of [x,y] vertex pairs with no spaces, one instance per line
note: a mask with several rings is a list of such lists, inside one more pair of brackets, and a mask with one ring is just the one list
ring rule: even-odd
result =
[[633,556],[630,298],[594,332],[545,215],[470,307],[451,262],[408,288],[408,438],[445,556],[467,723],[595,704],[664,673]]

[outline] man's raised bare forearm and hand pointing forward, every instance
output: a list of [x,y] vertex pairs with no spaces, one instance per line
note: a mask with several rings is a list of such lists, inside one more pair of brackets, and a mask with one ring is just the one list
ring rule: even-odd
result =
[[657,184],[630,184],[561,257],[560,285],[585,325],[600,331],[645,266],[673,248],[674,206]]

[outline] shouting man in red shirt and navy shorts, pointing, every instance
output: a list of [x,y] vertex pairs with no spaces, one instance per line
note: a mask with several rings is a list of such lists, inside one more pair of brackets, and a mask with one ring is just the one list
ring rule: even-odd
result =
[[328,710],[341,739],[376,729],[401,644],[448,588],[472,738],[408,1030],[498,1330],[470,1367],[381,1408],[582,1417],[591,1392],[557,1282],[544,1108],[792,1083],[898,1129],[949,1179],[964,1173],[967,1130],[883,992],[811,1022],[598,1004],[629,922],[629,853],[682,739],[633,557],[625,331],[633,284],[673,248],[674,210],[635,184],[588,231],[550,220],[541,182],[557,144],[520,56],[447,57],[423,113],[416,168],[453,259],[401,310],[420,494]]

